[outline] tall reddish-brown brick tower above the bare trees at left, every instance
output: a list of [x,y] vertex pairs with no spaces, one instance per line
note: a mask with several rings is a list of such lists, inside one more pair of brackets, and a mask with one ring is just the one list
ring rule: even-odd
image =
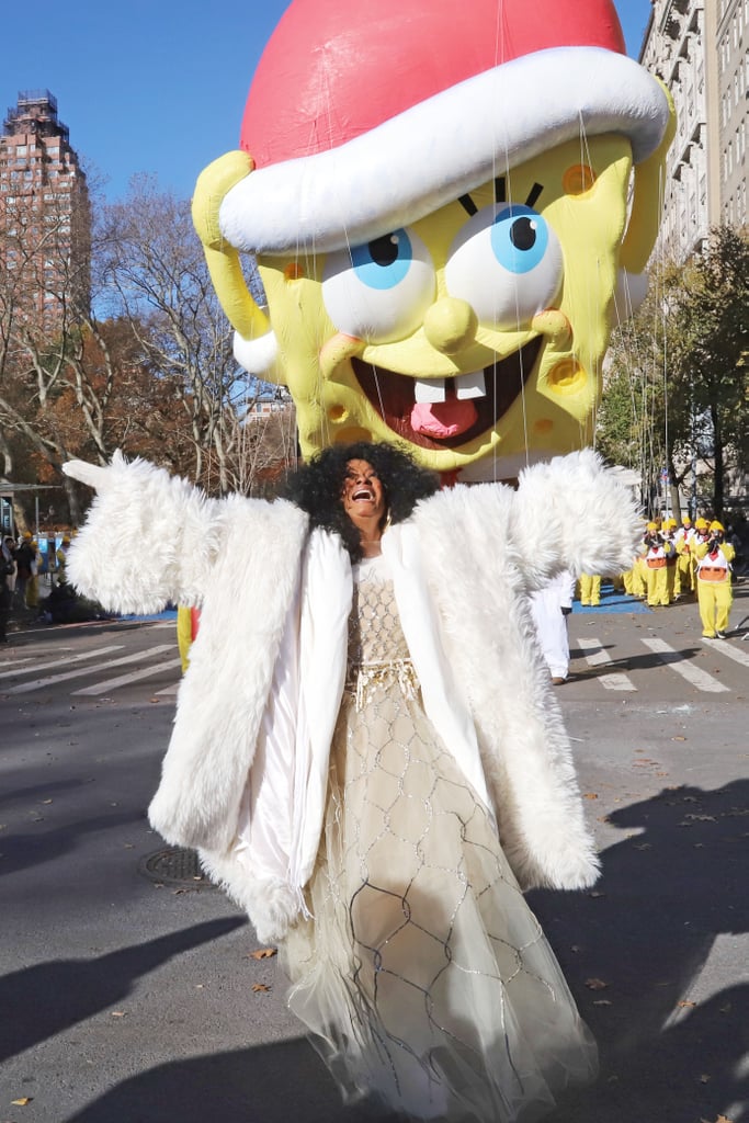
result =
[[48,90],[18,94],[0,136],[0,268],[16,307],[45,323],[91,300],[91,208],[85,173]]

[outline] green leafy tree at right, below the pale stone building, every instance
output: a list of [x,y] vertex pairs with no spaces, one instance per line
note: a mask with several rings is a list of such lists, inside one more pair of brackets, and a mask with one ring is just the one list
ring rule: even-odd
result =
[[749,232],[719,227],[702,254],[654,271],[647,300],[614,332],[597,442],[641,472],[646,501],[664,467],[683,494],[693,460],[716,514],[746,486],[748,286]]

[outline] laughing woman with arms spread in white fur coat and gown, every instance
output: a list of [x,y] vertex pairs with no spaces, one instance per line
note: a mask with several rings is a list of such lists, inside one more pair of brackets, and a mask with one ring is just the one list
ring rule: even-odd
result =
[[280,942],[345,1095],[550,1110],[595,1047],[521,889],[599,861],[528,593],[625,565],[627,492],[590,451],[435,492],[390,446],[338,447],[274,503],[119,455],[65,471],[98,492],[82,593],[201,605],[150,821]]

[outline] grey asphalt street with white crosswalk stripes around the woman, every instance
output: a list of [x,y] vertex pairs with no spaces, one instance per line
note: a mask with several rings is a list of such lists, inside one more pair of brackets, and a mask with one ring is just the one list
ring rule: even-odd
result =
[[[529,895],[601,1051],[549,1123],[747,1123],[749,585],[606,590],[569,618],[573,738],[603,876]],[[25,626],[0,650],[0,1123],[375,1123],[285,1010],[274,956],[146,807],[174,620]],[[166,866],[159,861],[166,862]],[[15,1103],[16,1102],[16,1103]]]

